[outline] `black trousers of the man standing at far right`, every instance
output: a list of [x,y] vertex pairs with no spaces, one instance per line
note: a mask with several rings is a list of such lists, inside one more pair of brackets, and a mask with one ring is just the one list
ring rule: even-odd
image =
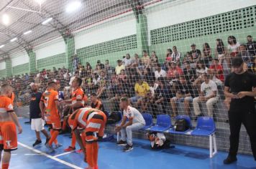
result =
[[253,156],[256,160],[256,112],[244,110],[229,110],[230,148],[229,155],[236,156],[239,146],[239,132],[244,125],[250,137]]

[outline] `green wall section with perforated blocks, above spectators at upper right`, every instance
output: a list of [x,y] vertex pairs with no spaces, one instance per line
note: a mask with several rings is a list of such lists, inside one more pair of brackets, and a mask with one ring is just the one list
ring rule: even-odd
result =
[[150,51],[155,50],[158,57],[164,59],[166,49],[173,46],[185,54],[193,43],[202,50],[202,45],[208,42],[214,49],[217,38],[227,45],[227,37],[233,35],[244,43],[249,34],[256,39],[256,6],[151,30]]

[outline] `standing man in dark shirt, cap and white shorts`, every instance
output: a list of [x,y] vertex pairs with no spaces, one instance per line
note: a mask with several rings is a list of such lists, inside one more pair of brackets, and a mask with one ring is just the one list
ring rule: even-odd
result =
[[47,134],[47,131],[44,128],[45,121],[42,120],[42,113],[40,110],[40,100],[42,97],[42,93],[38,92],[38,86],[35,83],[29,84],[32,90],[31,99],[29,102],[29,113],[30,113],[30,119],[31,119],[31,129],[35,130],[35,135],[37,136],[37,140],[35,140],[35,143],[33,144],[33,147],[35,145],[39,145],[42,143],[40,132],[45,135],[46,137],[46,143],[48,140],[50,140],[50,136]]

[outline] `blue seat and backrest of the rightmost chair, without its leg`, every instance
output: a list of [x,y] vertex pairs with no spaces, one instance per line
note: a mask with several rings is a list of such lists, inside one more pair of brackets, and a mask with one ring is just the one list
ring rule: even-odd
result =
[[209,136],[216,131],[214,119],[212,117],[198,117],[196,129],[191,135]]

